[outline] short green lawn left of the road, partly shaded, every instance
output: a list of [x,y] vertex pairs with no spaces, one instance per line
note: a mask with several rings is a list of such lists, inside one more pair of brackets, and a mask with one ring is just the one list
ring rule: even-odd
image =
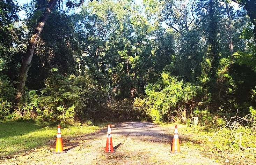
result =
[[[61,125],[61,135],[65,138],[86,134],[101,129],[101,126]],[[19,152],[43,146],[54,140],[57,125],[42,125],[25,121],[0,121],[0,158],[11,157]]]

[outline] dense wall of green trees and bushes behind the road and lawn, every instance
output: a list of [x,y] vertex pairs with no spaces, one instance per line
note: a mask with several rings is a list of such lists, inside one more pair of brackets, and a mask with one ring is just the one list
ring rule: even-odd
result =
[[0,7],[1,118],[207,122],[256,111],[255,0]]

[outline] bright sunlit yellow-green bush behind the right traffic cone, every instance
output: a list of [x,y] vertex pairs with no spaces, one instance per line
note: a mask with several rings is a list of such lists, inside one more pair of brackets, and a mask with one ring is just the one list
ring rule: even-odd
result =
[[177,121],[175,116],[179,116],[182,122],[186,122],[188,110],[192,112],[201,91],[200,86],[178,81],[169,73],[162,73],[157,84],[146,87],[146,105],[152,120]]

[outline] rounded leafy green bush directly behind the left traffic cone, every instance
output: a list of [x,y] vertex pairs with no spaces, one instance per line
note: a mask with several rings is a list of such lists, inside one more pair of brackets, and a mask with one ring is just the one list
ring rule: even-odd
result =
[[85,107],[87,91],[80,77],[70,75],[68,77],[54,74],[45,80],[45,88],[42,90],[43,116],[58,121],[74,119],[77,112]]

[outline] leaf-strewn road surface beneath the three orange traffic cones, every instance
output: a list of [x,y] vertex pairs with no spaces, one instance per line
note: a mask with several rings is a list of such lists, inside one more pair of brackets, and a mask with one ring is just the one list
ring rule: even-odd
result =
[[[174,127],[149,122],[126,122],[111,126],[115,154],[105,154],[107,128],[65,141],[66,154],[52,154],[49,148],[35,149],[26,155],[0,162],[0,165],[214,165],[198,148],[181,146],[182,154],[171,154]],[[182,138],[182,134],[179,135]]]

